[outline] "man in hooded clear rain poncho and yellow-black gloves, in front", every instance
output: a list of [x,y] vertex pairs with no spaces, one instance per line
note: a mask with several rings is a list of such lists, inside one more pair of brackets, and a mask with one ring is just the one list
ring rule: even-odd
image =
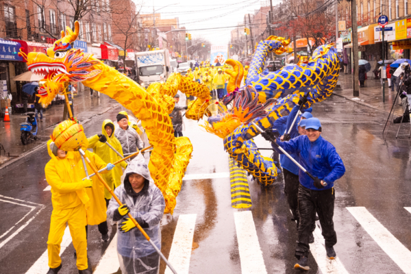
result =
[[127,166],[123,184],[114,190],[123,206],[119,207],[114,198],[108,205],[108,219],[119,226],[117,252],[123,274],[156,274],[159,271],[160,256],[127,217],[130,212],[161,250],[160,221],[165,202],[162,192],[150,179],[149,168],[139,154]]

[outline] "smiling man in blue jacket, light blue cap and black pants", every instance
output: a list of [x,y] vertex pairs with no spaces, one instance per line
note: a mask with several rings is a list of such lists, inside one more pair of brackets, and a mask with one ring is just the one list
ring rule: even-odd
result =
[[[345,166],[335,147],[321,137],[319,119],[310,118],[306,121],[307,135],[298,136],[288,142],[276,140],[277,144],[288,153],[299,155],[299,164],[315,179],[299,170],[299,229],[295,257],[299,260],[295,269],[309,270],[308,253],[310,253],[309,237],[314,224],[315,213],[319,214],[327,257],[336,257],[334,245],[337,235],[334,230],[334,182],[345,173]],[[327,186],[324,186],[324,182]]]

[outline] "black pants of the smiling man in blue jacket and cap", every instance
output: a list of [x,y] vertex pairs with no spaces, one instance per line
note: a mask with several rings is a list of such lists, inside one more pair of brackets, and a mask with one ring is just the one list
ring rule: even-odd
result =
[[310,190],[304,186],[299,186],[298,204],[300,223],[298,228],[298,243],[295,249],[295,257],[308,256],[310,245],[308,238],[312,233],[312,225],[315,225],[315,212],[319,214],[325,247],[333,247],[337,243],[337,234],[334,230],[334,188],[327,190]]

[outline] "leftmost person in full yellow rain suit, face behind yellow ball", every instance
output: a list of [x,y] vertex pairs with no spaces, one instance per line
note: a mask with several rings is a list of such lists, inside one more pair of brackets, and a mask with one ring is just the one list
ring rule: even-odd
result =
[[77,269],[79,273],[91,274],[87,262],[86,239],[86,203],[90,201],[85,188],[92,186],[91,179],[78,179],[75,173],[78,162],[81,161],[80,153],[65,152],[57,148],[54,142],[47,142],[47,150],[51,160],[46,164],[45,175],[47,183],[51,186],[51,213],[50,232],[47,240],[49,254],[49,271],[55,274],[62,268],[60,258],[60,244],[69,224],[73,246],[77,252]]

